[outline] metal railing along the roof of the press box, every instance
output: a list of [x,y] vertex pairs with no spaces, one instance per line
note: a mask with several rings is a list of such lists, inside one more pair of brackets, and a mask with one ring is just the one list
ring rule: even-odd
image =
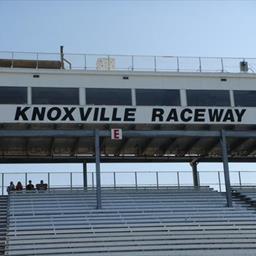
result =
[[[256,58],[229,57],[182,57],[99,55],[65,53],[65,62],[60,68],[85,71],[151,71],[151,72],[232,72],[240,73],[241,62],[246,63],[246,72],[256,72]],[[0,61],[9,60],[5,67],[14,68],[19,60],[30,60],[40,69],[40,61],[59,61],[59,53],[3,52]],[[0,65],[1,66],[1,65]],[[248,70],[247,70],[248,69]]]

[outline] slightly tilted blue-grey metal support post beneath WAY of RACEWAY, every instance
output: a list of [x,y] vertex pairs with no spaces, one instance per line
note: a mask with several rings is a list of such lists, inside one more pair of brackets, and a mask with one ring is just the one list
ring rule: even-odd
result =
[[231,193],[231,188],[230,188],[227,141],[226,141],[226,136],[225,136],[224,130],[221,131],[220,142],[221,142],[221,148],[222,148],[222,159],[223,159],[227,206],[232,207],[232,193]]

